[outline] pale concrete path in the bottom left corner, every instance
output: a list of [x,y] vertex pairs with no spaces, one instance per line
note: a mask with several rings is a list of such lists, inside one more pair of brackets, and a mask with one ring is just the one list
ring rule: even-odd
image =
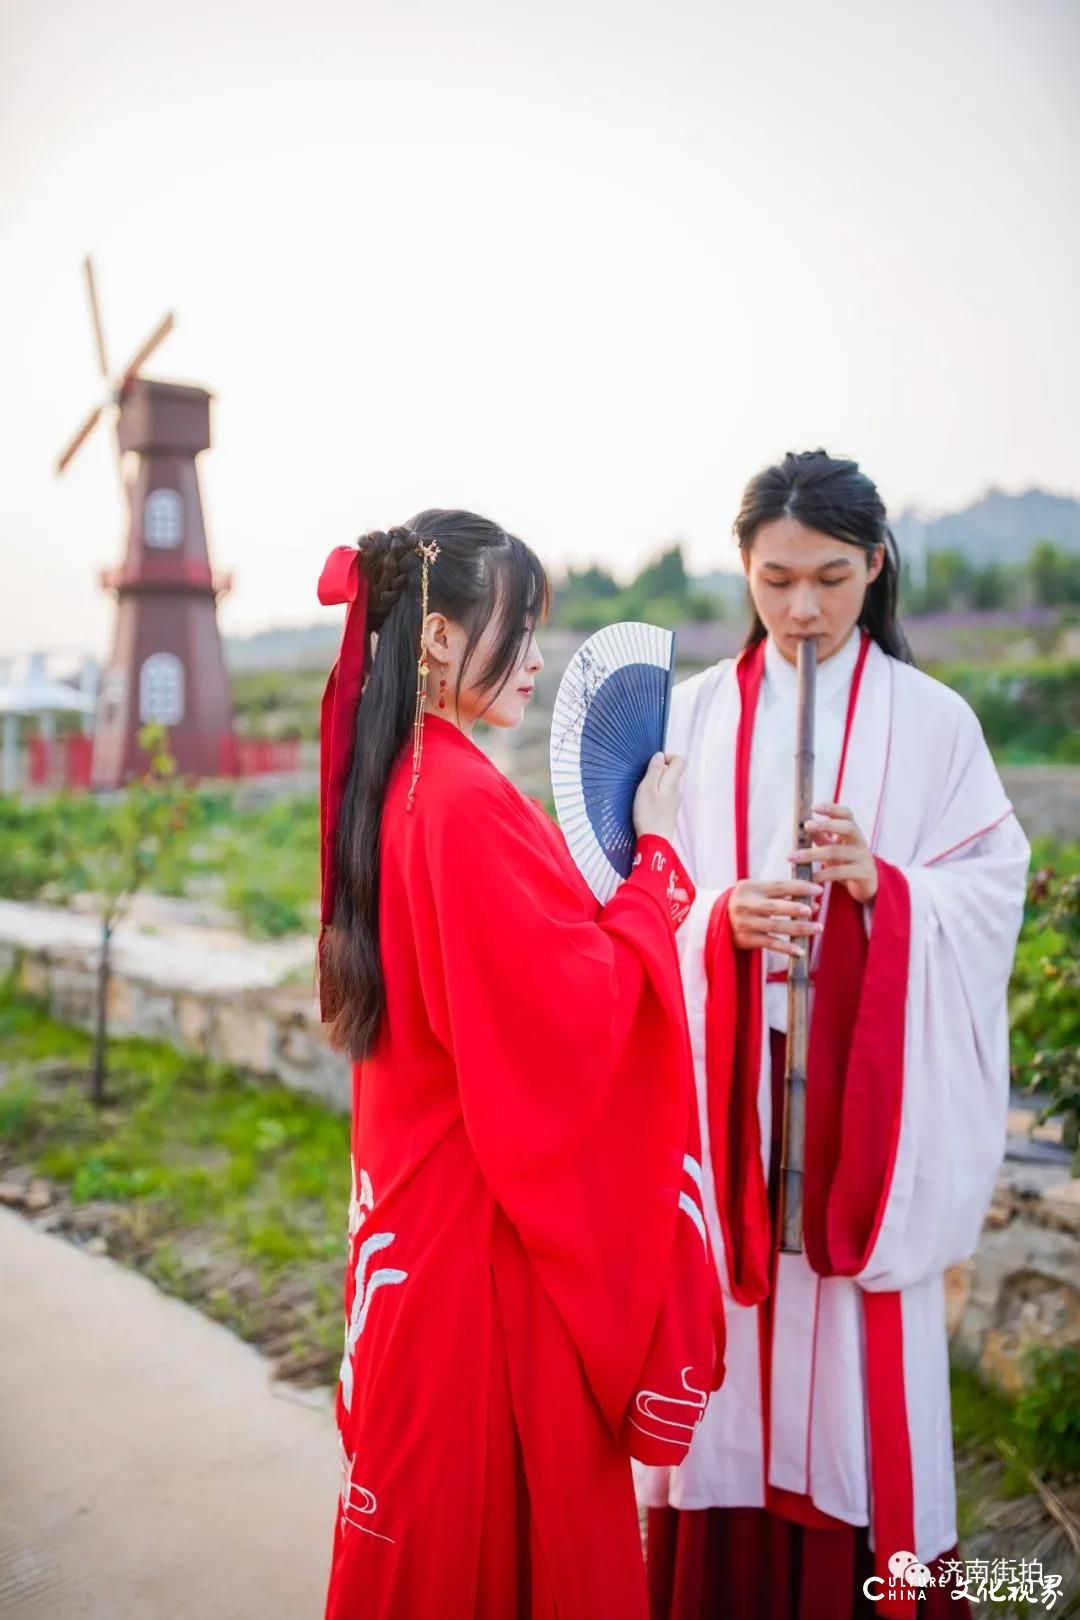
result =
[[0,1210],[2,1620],[321,1620],[329,1406]]

